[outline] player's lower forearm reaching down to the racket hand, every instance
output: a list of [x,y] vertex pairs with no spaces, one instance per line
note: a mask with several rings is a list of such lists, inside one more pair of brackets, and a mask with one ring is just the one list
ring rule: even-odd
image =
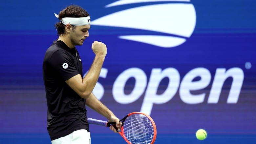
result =
[[106,117],[108,120],[111,119],[111,117],[116,117],[114,113],[101,103],[93,93],[86,99],[86,105]]

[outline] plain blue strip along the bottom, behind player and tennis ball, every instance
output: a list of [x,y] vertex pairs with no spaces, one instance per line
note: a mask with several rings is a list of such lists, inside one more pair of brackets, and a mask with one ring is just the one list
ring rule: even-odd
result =
[[[119,134],[91,134],[92,144],[125,144]],[[0,134],[1,144],[51,144],[48,134]],[[158,134],[155,144],[255,144],[256,135],[208,134],[197,140],[194,134]]]

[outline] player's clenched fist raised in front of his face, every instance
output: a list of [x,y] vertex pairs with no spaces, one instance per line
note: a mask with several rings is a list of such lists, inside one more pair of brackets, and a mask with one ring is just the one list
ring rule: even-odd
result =
[[92,44],[92,50],[96,54],[96,56],[105,57],[107,54],[107,46],[102,42],[94,41],[94,43]]

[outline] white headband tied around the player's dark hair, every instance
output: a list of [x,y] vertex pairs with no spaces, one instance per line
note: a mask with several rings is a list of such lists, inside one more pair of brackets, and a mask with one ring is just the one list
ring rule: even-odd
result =
[[[59,18],[59,15],[56,13],[55,17]],[[73,26],[85,26],[91,24],[90,16],[87,17],[64,17],[61,20],[61,23],[64,25],[71,24]]]

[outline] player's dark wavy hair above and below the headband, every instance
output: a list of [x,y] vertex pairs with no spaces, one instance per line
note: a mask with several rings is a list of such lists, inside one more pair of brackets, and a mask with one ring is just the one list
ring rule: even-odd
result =
[[[71,5],[66,7],[64,10],[61,10],[59,12],[59,20],[61,20],[64,17],[86,17],[90,16],[89,13],[81,8],[80,6]],[[57,30],[57,35],[63,35],[65,34],[65,25],[63,23],[57,22],[54,25],[55,29]],[[73,30],[75,29],[75,26],[73,26]]]

